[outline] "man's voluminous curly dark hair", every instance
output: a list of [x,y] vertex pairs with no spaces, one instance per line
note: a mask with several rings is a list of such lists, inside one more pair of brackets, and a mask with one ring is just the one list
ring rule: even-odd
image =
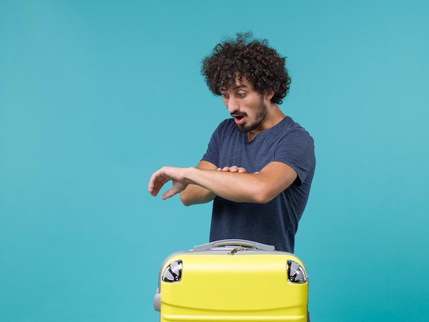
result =
[[208,88],[221,95],[245,77],[261,94],[274,92],[273,103],[281,104],[291,84],[284,62],[268,40],[252,40],[252,32],[236,34],[236,40],[225,40],[216,45],[212,54],[204,58],[201,75],[206,78]]

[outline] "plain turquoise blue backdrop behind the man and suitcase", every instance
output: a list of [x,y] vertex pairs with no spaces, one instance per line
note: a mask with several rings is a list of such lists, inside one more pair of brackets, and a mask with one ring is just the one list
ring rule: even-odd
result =
[[252,30],[315,138],[295,253],[312,321],[429,316],[428,1],[0,2],[0,321],[158,321],[158,271],[210,204],[147,193],[228,113],[199,74]]

